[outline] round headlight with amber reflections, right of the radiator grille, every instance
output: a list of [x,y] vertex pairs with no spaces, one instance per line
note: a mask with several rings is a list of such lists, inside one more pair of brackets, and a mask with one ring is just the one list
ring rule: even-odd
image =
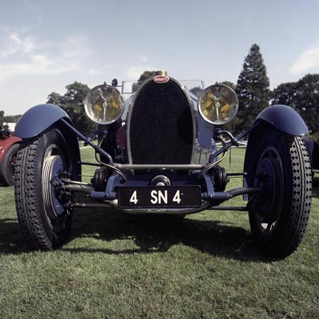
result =
[[198,98],[198,111],[211,124],[228,123],[238,111],[237,95],[223,84],[208,86]]

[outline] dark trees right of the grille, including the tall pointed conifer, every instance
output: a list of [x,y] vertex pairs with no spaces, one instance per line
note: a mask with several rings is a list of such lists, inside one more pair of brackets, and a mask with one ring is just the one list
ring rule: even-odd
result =
[[[283,83],[270,90],[267,68],[257,44],[250,47],[237,84],[227,81],[221,84],[230,86],[238,96],[237,116],[225,125],[235,134],[250,128],[264,108],[275,104],[294,108],[308,125],[310,133],[319,130],[319,74],[306,74],[297,82]],[[199,86],[190,89],[196,95],[201,90]]]

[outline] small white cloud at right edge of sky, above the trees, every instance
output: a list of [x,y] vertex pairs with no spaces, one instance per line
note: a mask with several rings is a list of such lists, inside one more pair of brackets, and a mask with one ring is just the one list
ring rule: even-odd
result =
[[[307,72],[313,67],[318,67],[319,70],[319,42],[308,50],[304,51],[298,60],[290,67],[291,74],[299,74]],[[318,72],[318,70],[316,72]]]

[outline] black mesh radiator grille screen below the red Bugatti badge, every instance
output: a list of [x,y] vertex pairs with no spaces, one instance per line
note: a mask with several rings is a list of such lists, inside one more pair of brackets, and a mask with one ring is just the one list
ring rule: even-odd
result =
[[147,82],[136,96],[128,134],[133,164],[190,164],[193,119],[179,85]]

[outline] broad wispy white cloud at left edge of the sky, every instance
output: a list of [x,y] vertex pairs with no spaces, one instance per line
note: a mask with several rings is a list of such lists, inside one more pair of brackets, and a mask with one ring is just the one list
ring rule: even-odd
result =
[[0,29],[0,80],[18,75],[77,72],[90,54],[84,35],[67,35],[45,43],[26,30]]

